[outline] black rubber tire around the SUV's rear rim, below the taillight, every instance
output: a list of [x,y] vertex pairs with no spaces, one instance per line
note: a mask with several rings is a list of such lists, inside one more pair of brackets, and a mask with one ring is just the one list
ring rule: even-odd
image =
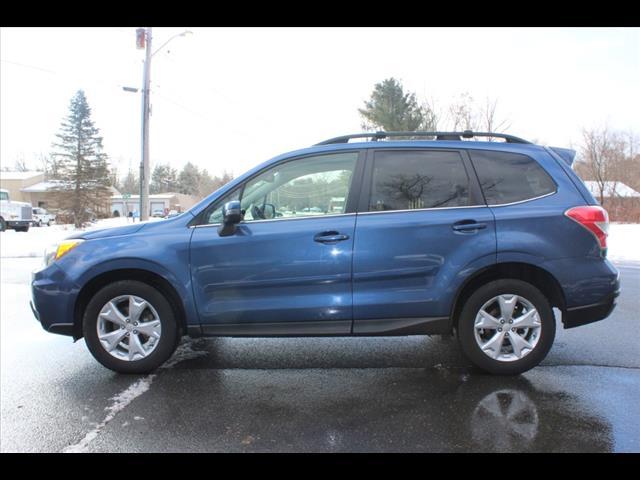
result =
[[[475,319],[481,307],[493,297],[516,294],[526,298],[538,311],[538,343],[518,360],[500,361],[482,351],[475,339]],[[515,279],[490,282],[478,288],[465,302],[458,320],[458,341],[463,353],[476,367],[496,375],[518,375],[538,365],[549,353],[556,333],[556,321],[547,298],[533,285]]]

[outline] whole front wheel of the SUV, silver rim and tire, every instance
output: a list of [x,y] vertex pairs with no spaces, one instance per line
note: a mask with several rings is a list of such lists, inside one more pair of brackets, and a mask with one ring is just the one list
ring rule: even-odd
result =
[[179,328],[171,305],[154,287],[124,280],[96,293],[84,313],[91,354],[119,373],[149,373],[175,351]]

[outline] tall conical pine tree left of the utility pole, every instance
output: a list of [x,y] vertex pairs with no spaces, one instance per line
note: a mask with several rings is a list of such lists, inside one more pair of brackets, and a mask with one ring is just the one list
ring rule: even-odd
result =
[[73,217],[76,227],[89,220],[93,212],[100,214],[105,207],[108,209],[111,180],[99,133],[84,91],[78,90],[56,135],[60,143],[53,144],[55,151],[51,154],[58,165],[58,206]]

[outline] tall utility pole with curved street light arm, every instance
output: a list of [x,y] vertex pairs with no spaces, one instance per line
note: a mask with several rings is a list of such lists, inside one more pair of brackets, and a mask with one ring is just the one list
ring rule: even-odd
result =
[[[151,83],[151,57],[177,37],[193,32],[185,30],[170,37],[158,50],[151,53],[151,27],[136,30],[136,45],[145,48],[145,60],[142,75],[142,162],[140,163],[140,221],[149,219],[149,85]],[[130,91],[130,90],[128,90]]]

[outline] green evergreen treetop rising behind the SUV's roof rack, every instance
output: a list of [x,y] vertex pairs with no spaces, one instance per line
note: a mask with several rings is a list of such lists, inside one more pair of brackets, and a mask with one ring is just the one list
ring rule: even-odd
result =
[[416,131],[433,128],[433,112],[418,105],[415,93],[405,93],[395,78],[377,83],[364,108],[358,112],[363,117],[365,130]]

